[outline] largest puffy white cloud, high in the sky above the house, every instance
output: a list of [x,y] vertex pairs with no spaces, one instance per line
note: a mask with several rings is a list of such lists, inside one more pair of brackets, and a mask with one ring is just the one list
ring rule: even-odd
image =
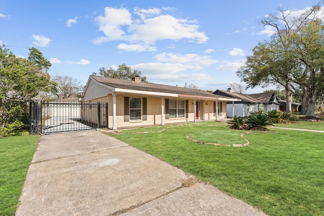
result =
[[[149,45],[147,47],[151,47],[150,45],[154,45],[159,40],[188,39],[196,43],[205,43],[209,40],[204,32],[198,31],[199,26],[196,20],[178,19],[171,15],[161,14],[163,11],[167,9],[135,8],[132,15],[125,8],[106,7],[105,15],[96,18],[99,30],[105,36],[96,38],[93,43],[99,45],[120,40],[129,42],[130,45],[146,44]],[[126,47],[125,44],[120,46],[120,48],[123,47]],[[151,51],[151,49],[143,50],[143,46],[139,46],[137,51]]]

